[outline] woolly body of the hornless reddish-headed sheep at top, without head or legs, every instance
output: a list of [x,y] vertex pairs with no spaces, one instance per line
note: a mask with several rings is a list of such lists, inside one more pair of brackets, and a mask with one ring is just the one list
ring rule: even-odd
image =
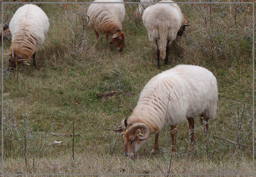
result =
[[[96,0],[94,2],[123,2],[122,0]],[[122,30],[121,22],[125,17],[124,4],[91,4],[87,15],[89,27],[100,34],[115,34]]]

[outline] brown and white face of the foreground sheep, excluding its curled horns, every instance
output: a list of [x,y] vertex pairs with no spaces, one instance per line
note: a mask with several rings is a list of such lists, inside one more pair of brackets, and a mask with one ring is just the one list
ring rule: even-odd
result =
[[124,155],[128,157],[133,157],[139,148],[146,142],[146,140],[140,141],[143,138],[141,129],[137,129],[134,133],[129,133],[127,130],[123,132],[123,138]]

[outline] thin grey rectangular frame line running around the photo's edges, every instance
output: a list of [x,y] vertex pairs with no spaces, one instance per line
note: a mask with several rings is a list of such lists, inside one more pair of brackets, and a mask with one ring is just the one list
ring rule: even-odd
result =
[[[66,2],[66,3],[63,3],[63,2],[2,2],[2,14],[1,14],[1,18],[2,18],[2,24],[3,24],[3,4],[97,4],[97,3],[102,3],[102,4],[105,4],[105,3],[115,3],[115,4],[144,4],[144,2]],[[145,2],[146,3],[146,2]],[[161,4],[161,2],[152,2],[152,4]],[[166,2],[164,2],[166,3]],[[253,87],[252,87],[252,91],[253,91],[253,94],[252,94],[252,98],[253,98],[253,105],[252,105],[252,109],[253,109],[253,112],[252,112],[252,123],[253,123],[253,143],[252,143],[252,148],[253,148],[253,154],[252,154],[252,173],[242,173],[240,175],[254,175],[254,2],[168,2],[170,4],[173,4],[173,3],[176,3],[176,4],[252,4],[252,17],[253,17],[253,34],[252,34],[252,38],[253,38],[253,43],[252,43],[252,60],[253,60],[253,64],[252,64],[252,68],[253,68],[253,75],[252,75],[252,83],[253,83]],[[162,3],[163,4],[163,3]],[[3,28],[2,28],[2,34],[3,34]],[[3,37],[2,37],[2,44],[3,44]],[[4,92],[4,88],[3,88],[3,45],[2,45],[2,82],[1,82],[1,85],[2,85],[2,113],[1,113],[1,116],[2,116],[2,119],[3,119],[3,92]],[[1,170],[1,174],[2,175],[210,175],[210,173],[147,173],[147,174],[140,174],[140,173],[22,173],[22,174],[16,174],[16,173],[12,173],[12,174],[8,174],[8,173],[3,173],[3,168],[4,168],[4,156],[3,156],[3,127],[4,127],[4,123],[3,123],[3,120],[2,120],[2,170]]]

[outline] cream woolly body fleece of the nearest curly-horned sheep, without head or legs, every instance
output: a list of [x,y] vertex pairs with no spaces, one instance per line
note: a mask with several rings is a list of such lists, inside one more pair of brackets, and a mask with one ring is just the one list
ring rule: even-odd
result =
[[145,123],[150,133],[178,125],[203,114],[215,119],[218,90],[215,76],[206,68],[178,65],[153,77],[140,93],[128,124]]

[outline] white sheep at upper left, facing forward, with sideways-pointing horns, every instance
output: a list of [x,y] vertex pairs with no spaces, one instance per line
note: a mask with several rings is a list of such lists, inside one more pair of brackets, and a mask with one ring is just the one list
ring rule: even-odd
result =
[[29,65],[27,62],[33,55],[33,66],[36,68],[35,55],[43,45],[49,29],[49,20],[45,12],[38,6],[26,4],[17,9],[10,24],[12,44],[8,67],[15,67],[16,63]]

